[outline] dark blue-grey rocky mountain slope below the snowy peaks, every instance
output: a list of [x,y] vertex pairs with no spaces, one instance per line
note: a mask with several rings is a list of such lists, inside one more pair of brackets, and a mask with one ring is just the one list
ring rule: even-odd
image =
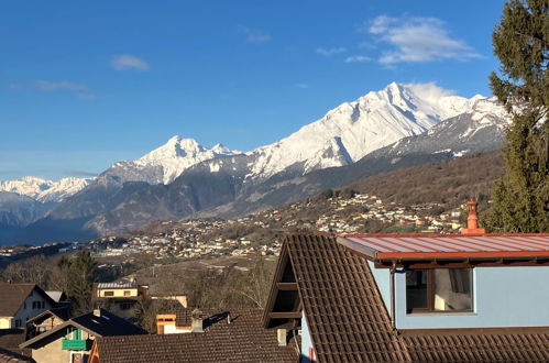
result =
[[128,196],[122,204],[91,219],[87,226],[108,233],[152,219],[231,218],[378,173],[497,150],[507,119],[501,113],[486,112],[483,107],[490,102],[490,99],[475,97],[469,109],[471,113],[450,118],[428,132],[402,139],[341,167],[304,174],[305,163],[295,163],[257,182],[259,178],[250,177],[253,175],[250,165],[254,161],[250,154],[200,163],[168,186],[149,187]]

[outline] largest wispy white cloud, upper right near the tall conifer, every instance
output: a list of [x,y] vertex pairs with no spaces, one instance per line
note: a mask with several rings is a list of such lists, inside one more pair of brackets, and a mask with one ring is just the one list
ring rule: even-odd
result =
[[378,42],[392,47],[378,58],[386,65],[480,57],[464,42],[450,37],[444,22],[437,18],[381,15],[359,30],[375,35]]

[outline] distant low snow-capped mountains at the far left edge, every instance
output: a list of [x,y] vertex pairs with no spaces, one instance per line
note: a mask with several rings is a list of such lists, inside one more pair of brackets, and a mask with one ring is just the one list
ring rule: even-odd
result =
[[58,202],[80,191],[92,180],[92,178],[67,177],[52,182],[34,176],[24,176],[17,180],[0,182],[0,191],[15,193],[41,202]]

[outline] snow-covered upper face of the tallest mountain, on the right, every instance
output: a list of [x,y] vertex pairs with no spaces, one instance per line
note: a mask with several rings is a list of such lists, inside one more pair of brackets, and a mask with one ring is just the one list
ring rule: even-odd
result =
[[466,99],[435,84],[392,82],[383,90],[340,105],[274,144],[246,153],[254,160],[248,178],[265,179],[299,163],[304,174],[348,165],[461,113],[479,120],[505,117],[495,98]]

